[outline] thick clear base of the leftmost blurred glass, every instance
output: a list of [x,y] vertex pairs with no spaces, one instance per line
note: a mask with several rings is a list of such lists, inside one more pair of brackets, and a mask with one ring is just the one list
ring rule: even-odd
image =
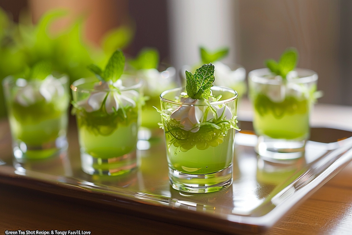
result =
[[31,145],[20,140],[12,142],[13,156],[18,162],[25,160],[40,160],[59,155],[67,150],[68,142],[66,136],[57,137],[56,140],[41,145]]

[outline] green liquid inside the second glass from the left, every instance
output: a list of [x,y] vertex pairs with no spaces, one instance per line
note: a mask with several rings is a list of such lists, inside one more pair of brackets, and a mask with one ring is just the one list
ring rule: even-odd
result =
[[86,153],[109,159],[136,149],[138,108],[126,109],[126,117],[121,112],[121,109],[112,114],[101,110],[76,111],[79,142]]

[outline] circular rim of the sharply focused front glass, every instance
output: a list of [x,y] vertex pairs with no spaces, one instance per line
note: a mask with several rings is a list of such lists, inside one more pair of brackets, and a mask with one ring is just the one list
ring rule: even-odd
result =
[[[226,104],[226,103],[230,103],[234,100],[237,100],[238,98],[238,93],[237,91],[235,91],[234,89],[228,88],[228,87],[223,87],[223,86],[212,86],[210,89],[218,89],[218,91],[227,91],[230,92],[232,94],[234,94],[233,97],[225,99],[225,100],[219,100],[219,101],[211,101],[209,102],[210,105],[221,105],[221,104]],[[185,105],[185,106],[206,106],[207,104],[191,104],[191,103],[181,103],[181,102],[177,102],[174,100],[169,100],[164,98],[163,96],[165,96],[166,94],[170,93],[170,92],[174,92],[177,90],[186,90],[186,87],[176,87],[176,88],[172,88],[169,90],[164,91],[163,93],[160,94],[159,98],[161,101],[165,102],[165,103],[170,103],[170,104],[176,104],[176,105]]]

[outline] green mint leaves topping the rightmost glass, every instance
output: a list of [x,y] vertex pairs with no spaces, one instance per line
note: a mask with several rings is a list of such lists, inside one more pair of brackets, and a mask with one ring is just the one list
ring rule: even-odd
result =
[[278,62],[275,60],[266,60],[266,67],[276,75],[286,79],[286,75],[296,68],[298,53],[295,48],[289,48],[283,52]]

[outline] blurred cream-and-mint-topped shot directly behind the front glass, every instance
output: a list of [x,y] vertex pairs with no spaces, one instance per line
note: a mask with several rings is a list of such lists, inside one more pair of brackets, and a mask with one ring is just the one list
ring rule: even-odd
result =
[[[247,92],[245,81],[246,69],[239,64],[222,62],[222,60],[228,56],[228,53],[228,47],[218,48],[214,51],[210,51],[205,47],[199,47],[201,61],[194,66],[184,66],[183,70],[194,72],[202,64],[214,64],[214,76],[216,78],[214,86],[223,86],[234,89],[238,93],[238,99],[240,99]],[[186,79],[184,74],[182,74],[182,76]]]

